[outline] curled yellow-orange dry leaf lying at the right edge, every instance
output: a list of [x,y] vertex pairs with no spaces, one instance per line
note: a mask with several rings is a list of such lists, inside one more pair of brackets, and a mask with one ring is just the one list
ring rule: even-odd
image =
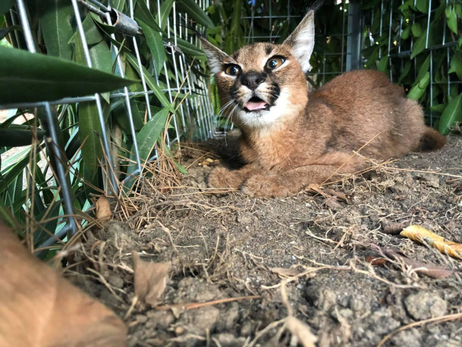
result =
[[410,225],[399,234],[416,242],[426,243],[441,253],[462,260],[462,245],[460,243],[446,241],[444,237],[432,233],[421,225]]

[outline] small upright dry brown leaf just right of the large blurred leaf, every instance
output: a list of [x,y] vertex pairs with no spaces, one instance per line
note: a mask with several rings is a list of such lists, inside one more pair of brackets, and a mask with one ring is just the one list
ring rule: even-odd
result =
[[139,254],[131,251],[135,272],[135,295],[144,304],[156,306],[167,284],[170,262],[145,262]]

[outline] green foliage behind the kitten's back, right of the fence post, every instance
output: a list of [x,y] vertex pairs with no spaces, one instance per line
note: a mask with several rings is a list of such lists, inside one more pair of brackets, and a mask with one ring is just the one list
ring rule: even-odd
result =
[[[410,99],[424,106],[426,115],[430,116],[426,117],[429,125],[447,134],[456,122],[461,122],[460,106],[455,101],[462,92],[462,85],[458,83],[462,79],[461,2],[431,1],[430,9],[429,0],[417,0],[415,6],[414,0],[406,0],[402,5],[399,1],[384,1],[383,11],[380,1],[369,2],[364,17],[365,45],[370,38],[376,44],[362,50],[365,68],[384,70],[387,57],[390,65],[385,73],[404,87]],[[382,36],[377,27],[380,15]]]

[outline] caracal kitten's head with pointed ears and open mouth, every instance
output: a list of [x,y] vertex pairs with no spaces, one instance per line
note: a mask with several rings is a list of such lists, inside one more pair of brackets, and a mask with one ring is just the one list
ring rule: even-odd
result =
[[203,41],[222,112],[243,127],[264,128],[296,117],[308,100],[305,73],[314,46],[313,11],[281,45],[255,43],[227,55]]

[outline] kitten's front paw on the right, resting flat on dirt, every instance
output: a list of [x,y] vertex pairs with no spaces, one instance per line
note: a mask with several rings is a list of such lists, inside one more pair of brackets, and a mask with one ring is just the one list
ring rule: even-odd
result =
[[249,178],[242,187],[242,191],[251,198],[271,198],[288,196],[291,192],[281,184],[276,177],[257,175]]

